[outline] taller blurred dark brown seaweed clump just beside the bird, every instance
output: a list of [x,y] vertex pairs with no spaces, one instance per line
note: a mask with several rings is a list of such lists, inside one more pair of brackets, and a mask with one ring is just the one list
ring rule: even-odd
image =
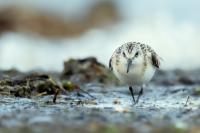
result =
[[119,82],[113,73],[94,57],[78,60],[70,59],[64,62],[62,77],[74,83],[117,84]]

